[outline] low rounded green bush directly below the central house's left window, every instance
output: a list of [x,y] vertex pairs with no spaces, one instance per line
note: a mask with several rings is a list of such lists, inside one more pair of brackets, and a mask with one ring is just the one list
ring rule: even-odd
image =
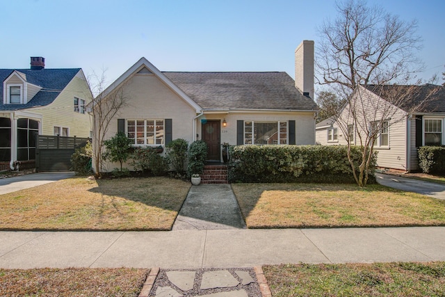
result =
[[136,147],[131,154],[130,165],[135,170],[151,172],[152,175],[164,175],[168,170],[168,162],[165,157],[156,152],[152,147]]

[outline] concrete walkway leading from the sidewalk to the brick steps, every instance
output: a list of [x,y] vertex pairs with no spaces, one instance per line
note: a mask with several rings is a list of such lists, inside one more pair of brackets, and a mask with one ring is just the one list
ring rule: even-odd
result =
[[245,228],[243,216],[229,184],[191,186],[172,230]]

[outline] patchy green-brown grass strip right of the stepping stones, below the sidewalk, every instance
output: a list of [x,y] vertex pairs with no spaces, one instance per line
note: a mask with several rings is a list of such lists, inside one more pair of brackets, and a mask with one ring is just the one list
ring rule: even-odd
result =
[[263,266],[274,297],[445,296],[445,262]]

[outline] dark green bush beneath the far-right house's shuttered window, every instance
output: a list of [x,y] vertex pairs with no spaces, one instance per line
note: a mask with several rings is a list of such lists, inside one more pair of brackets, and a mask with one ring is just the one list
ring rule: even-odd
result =
[[419,167],[424,173],[445,172],[445,146],[424,146],[417,150]]

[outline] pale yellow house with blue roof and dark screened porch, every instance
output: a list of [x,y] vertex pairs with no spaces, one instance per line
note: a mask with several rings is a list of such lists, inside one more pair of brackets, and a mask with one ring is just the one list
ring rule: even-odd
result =
[[35,134],[90,137],[91,91],[81,68],[0,69],[0,169],[35,161]]

